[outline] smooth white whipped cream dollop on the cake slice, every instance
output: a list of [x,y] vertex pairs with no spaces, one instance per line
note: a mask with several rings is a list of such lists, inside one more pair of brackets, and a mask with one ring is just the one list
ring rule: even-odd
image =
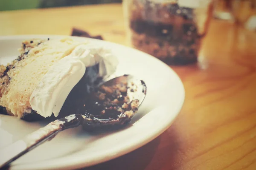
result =
[[77,46],[71,54],[56,62],[33,90],[29,102],[43,117],[58,116],[67,96],[84,76],[86,67],[99,64],[98,77],[108,77],[116,71],[118,59],[111,51],[92,44]]

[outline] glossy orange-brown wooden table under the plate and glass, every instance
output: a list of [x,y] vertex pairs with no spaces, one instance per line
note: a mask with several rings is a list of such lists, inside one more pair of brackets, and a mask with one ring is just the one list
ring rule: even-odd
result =
[[[126,45],[119,4],[0,12],[0,35],[70,35],[73,27]],[[84,170],[256,170],[256,34],[212,20],[198,64],[172,68],[186,89],[173,125]]]

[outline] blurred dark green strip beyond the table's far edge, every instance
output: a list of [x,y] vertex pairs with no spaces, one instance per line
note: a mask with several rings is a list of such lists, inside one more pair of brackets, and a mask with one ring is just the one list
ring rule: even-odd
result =
[[101,3],[122,3],[122,0],[0,0],[0,11]]

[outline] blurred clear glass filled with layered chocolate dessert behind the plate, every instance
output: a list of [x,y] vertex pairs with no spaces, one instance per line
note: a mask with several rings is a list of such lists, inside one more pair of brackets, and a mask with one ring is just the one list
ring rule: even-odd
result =
[[166,62],[197,61],[212,0],[123,0],[128,43]]

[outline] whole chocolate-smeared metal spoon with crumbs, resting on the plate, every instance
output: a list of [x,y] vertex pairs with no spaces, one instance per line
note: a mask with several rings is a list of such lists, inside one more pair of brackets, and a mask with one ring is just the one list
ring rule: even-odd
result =
[[124,75],[99,85],[86,97],[77,96],[79,102],[73,106],[76,114],[57,119],[0,150],[0,155],[4,155],[0,158],[0,168],[65,129],[82,125],[84,130],[94,130],[127,124],[137,113],[145,95],[146,85],[142,80]]

